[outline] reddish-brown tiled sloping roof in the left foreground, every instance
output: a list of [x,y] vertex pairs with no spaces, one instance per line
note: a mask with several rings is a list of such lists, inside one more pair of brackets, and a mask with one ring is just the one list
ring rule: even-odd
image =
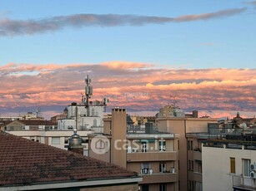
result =
[[0,131],[0,187],[137,177],[82,154]]

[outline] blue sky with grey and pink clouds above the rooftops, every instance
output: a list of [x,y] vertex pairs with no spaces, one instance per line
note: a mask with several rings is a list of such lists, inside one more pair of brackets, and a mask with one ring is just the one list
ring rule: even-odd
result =
[[84,94],[108,110],[256,115],[256,1],[1,0],[0,116],[46,118]]

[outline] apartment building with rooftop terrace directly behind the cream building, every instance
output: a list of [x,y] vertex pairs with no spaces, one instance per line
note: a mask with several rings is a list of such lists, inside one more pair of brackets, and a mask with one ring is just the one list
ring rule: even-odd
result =
[[203,189],[202,144],[208,140],[223,140],[230,137],[249,135],[255,128],[255,118],[240,117],[239,113],[233,119],[226,117],[217,122],[208,123],[207,132],[187,133],[188,145],[188,190]]

